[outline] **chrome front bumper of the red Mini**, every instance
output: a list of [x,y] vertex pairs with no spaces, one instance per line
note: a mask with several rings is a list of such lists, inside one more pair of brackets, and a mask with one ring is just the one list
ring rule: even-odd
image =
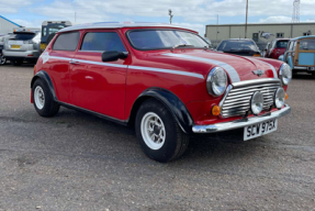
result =
[[223,132],[223,131],[230,131],[230,130],[235,130],[235,129],[241,129],[241,127],[245,127],[248,125],[252,125],[252,124],[257,124],[257,123],[265,122],[268,120],[281,118],[283,115],[286,115],[290,112],[291,112],[291,108],[288,104],[285,104],[285,107],[283,109],[278,110],[278,111],[273,111],[273,112],[265,114],[265,115],[236,120],[233,122],[223,122],[223,123],[217,123],[217,124],[210,124],[210,125],[194,125],[194,126],[192,126],[192,132],[193,133],[216,133],[216,132]]

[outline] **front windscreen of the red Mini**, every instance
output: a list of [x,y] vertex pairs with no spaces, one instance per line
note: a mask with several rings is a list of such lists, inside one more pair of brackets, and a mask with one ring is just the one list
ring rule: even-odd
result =
[[176,46],[203,48],[209,46],[199,35],[179,30],[131,31],[127,36],[137,49],[162,49]]

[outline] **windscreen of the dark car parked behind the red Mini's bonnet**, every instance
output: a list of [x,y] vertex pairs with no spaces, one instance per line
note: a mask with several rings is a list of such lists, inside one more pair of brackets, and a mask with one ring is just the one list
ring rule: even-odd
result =
[[217,51],[221,52],[259,52],[254,41],[223,41]]

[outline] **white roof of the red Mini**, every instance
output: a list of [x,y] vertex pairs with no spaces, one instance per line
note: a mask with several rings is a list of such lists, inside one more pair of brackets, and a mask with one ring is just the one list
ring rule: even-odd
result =
[[[166,24],[166,23],[148,23],[148,22],[97,22],[97,23],[85,23],[85,24],[77,24],[69,27],[64,27],[59,32],[68,32],[68,31],[76,31],[76,30],[86,30],[86,29],[122,29],[122,27],[178,27],[184,29],[189,31],[193,31],[187,27]],[[195,31],[193,31],[195,32]],[[195,32],[198,33],[198,32]]]

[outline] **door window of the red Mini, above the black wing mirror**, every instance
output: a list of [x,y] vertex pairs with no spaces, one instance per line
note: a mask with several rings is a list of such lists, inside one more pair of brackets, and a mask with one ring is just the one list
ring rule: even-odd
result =
[[81,51],[93,52],[126,52],[126,48],[115,32],[88,32],[85,35]]

